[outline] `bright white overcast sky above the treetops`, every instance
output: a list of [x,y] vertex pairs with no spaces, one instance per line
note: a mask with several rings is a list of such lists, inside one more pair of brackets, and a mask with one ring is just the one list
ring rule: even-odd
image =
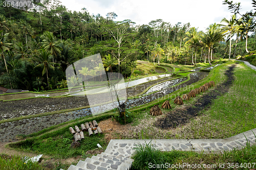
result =
[[[81,11],[84,7],[90,15],[100,14],[106,17],[109,12],[115,12],[116,21],[131,19],[136,25],[147,25],[156,19],[170,22],[172,26],[190,22],[191,27],[205,29],[211,23],[220,23],[221,19],[231,18],[232,13],[224,0],[60,0],[62,5],[71,11]],[[242,13],[251,10],[251,0],[233,0],[241,2]]]

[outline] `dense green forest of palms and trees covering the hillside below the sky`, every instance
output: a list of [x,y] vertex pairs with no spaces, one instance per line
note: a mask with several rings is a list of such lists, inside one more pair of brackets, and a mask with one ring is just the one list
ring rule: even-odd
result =
[[[29,11],[3,7],[3,2],[0,1],[0,85],[6,88],[65,88],[66,68],[97,53],[104,65],[94,66],[94,72],[80,70],[80,74],[90,77],[105,68],[127,78],[137,59],[158,64],[211,64],[211,59],[235,58],[255,50],[256,34],[248,36],[254,32],[255,14],[239,17],[239,10],[231,19],[224,18],[223,25],[214,23],[202,32],[190,28],[189,23],[172,26],[162,19],[142,26],[132,20],[116,22],[114,12],[106,18],[90,15],[85,8],[71,12],[59,1],[41,1]],[[236,39],[230,39],[233,36]],[[138,67],[134,75],[140,75],[140,71]]]

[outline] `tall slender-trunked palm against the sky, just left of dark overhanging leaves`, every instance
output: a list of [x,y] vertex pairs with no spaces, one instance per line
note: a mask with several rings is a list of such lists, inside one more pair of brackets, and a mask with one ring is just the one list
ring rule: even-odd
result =
[[220,25],[222,27],[222,30],[225,32],[230,32],[230,38],[229,38],[229,57],[228,60],[230,60],[231,56],[231,37],[232,32],[236,29],[236,15],[232,15],[230,20],[227,20],[226,18],[223,18],[221,22],[226,23],[226,25]]

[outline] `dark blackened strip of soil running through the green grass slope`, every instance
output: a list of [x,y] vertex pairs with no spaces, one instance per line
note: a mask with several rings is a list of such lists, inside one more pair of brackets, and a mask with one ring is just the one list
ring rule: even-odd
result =
[[227,76],[227,80],[225,82],[219,84],[214,90],[199,98],[195,105],[181,107],[166,114],[165,117],[159,118],[156,121],[155,126],[162,129],[176,128],[179,125],[188,123],[189,119],[197,116],[201,110],[208,109],[214,99],[217,99],[218,96],[228,92],[228,89],[234,80],[232,72],[234,67],[235,65],[233,64],[225,71],[225,75]]

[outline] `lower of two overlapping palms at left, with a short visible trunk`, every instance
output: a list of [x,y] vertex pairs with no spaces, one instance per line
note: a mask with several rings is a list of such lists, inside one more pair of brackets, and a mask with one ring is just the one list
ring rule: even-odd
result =
[[47,85],[49,86],[49,82],[48,82],[48,69],[51,68],[54,70],[54,66],[53,64],[54,62],[50,62],[51,57],[53,57],[48,51],[42,49],[39,53],[38,56],[36,56],[36,58],[38,59],[38,61],[40,62],[40,64],[36,65],[34,68],[36,67],[44,67],[44,69],[42,69],[42,76],[44,76],[44,74],[46,74],[47,76]]

